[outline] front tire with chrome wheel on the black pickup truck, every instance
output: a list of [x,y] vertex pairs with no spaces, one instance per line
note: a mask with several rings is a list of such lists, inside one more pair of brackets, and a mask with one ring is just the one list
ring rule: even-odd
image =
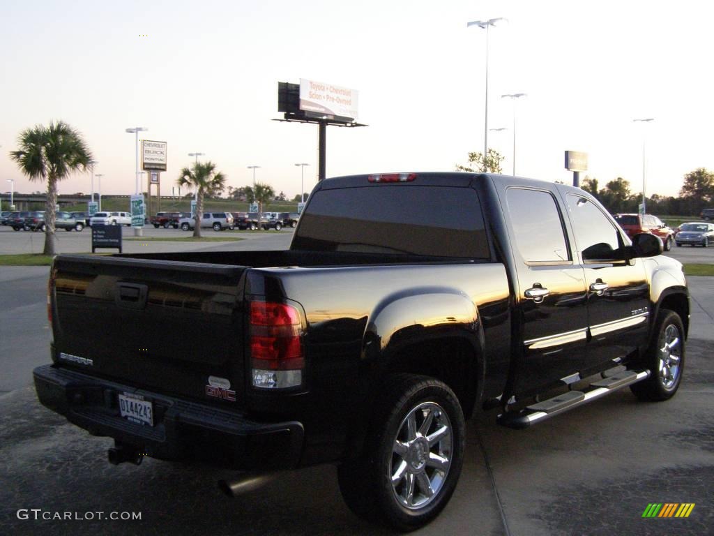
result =
[[643,362],[650,369],[650,377],[630,385],[630,390],[640,400],[659,402],[673,397],[682,382],[685,355],[682,319],[670,309],[660,309],[653,334]]

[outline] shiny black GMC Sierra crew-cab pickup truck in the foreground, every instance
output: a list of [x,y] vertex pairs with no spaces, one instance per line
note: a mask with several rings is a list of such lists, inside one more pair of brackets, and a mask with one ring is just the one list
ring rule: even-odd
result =
[[326,179],[286,251],[56,257],[36,391],[113,463],[334,463],[354,512],[412,530],[451,497],[473,412],[521,428],[675,394],[690,307],[661,252],[562,184]]

